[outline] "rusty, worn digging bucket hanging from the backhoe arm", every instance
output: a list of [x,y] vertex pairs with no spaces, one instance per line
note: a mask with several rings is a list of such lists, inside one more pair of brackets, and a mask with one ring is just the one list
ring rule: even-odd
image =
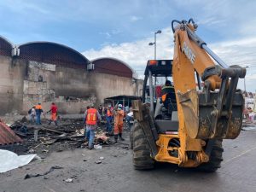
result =
[[[209,94],[209,93],[208,93]],[[197,93],[189,90],[185,94],[177,93],[185,117],[189,137],[200,139],[234,139],[241,131],[244,99],[241,92],[236,92],[231,100],[230,111],[225,110],[229,97],[224,98],[224,105],[218,110],[218,92]]]

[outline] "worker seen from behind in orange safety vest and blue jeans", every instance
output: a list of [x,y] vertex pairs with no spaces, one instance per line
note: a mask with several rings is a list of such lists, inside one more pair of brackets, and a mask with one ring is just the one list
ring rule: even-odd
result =
[[85,134],[86,140],[89,140],[89,143],[88,143],[89,149],[93,148],[92,144],[95,137],[96,124],[97,124],[97,121],[101,119],[102,117],[100,113],[97,111],[96,108],[94,108],[94,104],[91,104],[90,108],[87,109],[84,113],[84,121],[85,121],[84,123],[86,124],[86,128],[84,131],[86,132]]

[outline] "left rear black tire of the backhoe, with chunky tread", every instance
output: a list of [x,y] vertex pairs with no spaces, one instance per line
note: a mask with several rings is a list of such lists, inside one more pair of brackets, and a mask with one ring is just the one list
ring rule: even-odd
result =
[[137,170],[148,170],[154,168],[154,160],[150,156],[148,142],[142,127],[134,124],[133,131],[133,166]]

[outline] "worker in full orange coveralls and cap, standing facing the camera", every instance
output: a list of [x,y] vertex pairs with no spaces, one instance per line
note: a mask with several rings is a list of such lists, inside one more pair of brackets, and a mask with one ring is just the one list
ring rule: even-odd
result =
[[124,126],[124,110],[122,109],[122,104],[118,105],[117,110],[114,110],[114,143],[117,143],[118,137],[121,141],[124,141],[125,139],[122,137],[123,133],[123,126]]

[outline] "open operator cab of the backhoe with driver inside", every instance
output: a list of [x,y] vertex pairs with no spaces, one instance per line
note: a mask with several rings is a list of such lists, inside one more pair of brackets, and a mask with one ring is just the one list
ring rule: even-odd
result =
[[177,101],[172,83],[172,60],[148,61],[144,75],[143,103],[150,104],[157,131],[162,134],[177,132]]

